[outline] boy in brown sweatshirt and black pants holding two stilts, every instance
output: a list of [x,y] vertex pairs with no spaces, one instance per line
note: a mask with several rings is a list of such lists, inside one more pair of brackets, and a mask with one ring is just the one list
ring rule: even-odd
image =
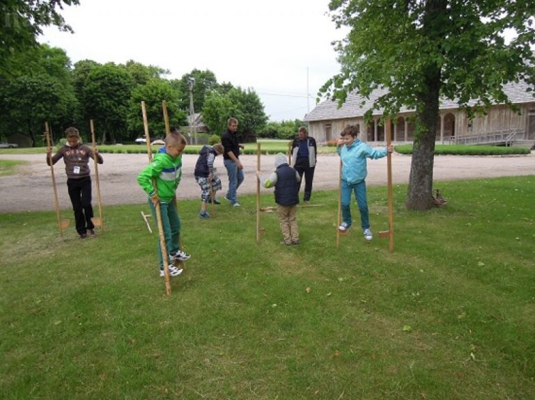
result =
[[95,225],[91,221],[93,206],[91,205],[89,159],[93,158],[93,154],[96,154],[99,164],[104,163],[104,160],[98,154],[98,150],[93,151],[91,147],[82,144],[78,129],[67,128],[65,137],[67,143],[54,156],[52,156],[52,148],[47,148],[47,164],[50,165],[51,158],[52,163],[55,164],[63,157],[70,202],[75,211],[76,232],[80,235],[80,239],[86,239],[88,234],[95,236]]

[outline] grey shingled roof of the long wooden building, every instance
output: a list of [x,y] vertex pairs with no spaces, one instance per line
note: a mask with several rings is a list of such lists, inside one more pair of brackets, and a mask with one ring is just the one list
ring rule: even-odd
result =
[[[507,97],[513,104],[529,103],[535,102],[535,97],[532,94],[533,92],[527,92],[529,84],[525,81],[519,83],[506,83],[504,85],[504,92]],[[532,86],[533,88],[533,86]],[[366,111],[371,109],[373,102],[378,99],[380,96],[388,93],[387,89],[380,88],[375,89],[371,93],[369,99],[358,95],[357,93],[351,93],[348,95],[346,102],[338,108],[338,101],[325,100],[318,104],[310,113],[305,115],[304,121],[320,121],[320,120],[338,120],[342,118],[356,118],[362,117]],[[364,104],[361,103],[364,101]],[[471,101],[469,105],[474,104],[475,101]],[[439,108],[443,109],[458,109],[459,106],[456,101],[445,99],[440,101]],[[382,115],[382,109],[373,110],[373,115]],[[414,112],[414,109],[408,109],[406,107],[401,107],[399,110],[400,113]]]

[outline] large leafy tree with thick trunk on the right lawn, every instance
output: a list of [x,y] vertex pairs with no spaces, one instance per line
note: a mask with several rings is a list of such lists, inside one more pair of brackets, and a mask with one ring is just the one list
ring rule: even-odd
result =
[[[343,103],[352,91],[368,96],[386,88],[373,107],[384,109],[384,118],[401,106],[416,111],[406,206],[431,208],[440,97],[474,115],[493,102],[508,103],[504,83],[535,83],[535,2],[332,0],[329,8],[349,33],[335,44],[341,72],[323,93]],[[508,31],[514,33],[510,42]],[[470,99],[476,104],[469,107]]]

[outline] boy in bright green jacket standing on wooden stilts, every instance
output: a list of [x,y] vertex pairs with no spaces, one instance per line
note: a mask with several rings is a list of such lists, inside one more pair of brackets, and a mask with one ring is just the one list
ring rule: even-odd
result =
[[[169,275],[182,273],[172,265],[174,260],[186,260],[190,255],[180,250],[180,217],[176,209],[176,188],[182,177],[182,152],[186,146],[182,134],[173,131],[165,138],[165,152],[155,154],[154,160],[146,166],[137,177],[137,182],[148,195],[148,204],[156,218],[156,205],[160,203],[165,246],[169,253]],[[153,186],[153,179],[156,187]],[[160,276],[164,276],[162,248],[158,240],[158,258]]]

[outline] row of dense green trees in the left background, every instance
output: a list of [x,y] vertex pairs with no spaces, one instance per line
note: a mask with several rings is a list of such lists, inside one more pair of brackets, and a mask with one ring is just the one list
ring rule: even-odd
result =
[[63,49],[37,45],[11,56],[15,70],[0,72],[0,132],[28,136],[40,142],[42,123],[52,131],[75,125],[88,134],[88,120],[98,127],[101,143],[133,141],[143,134],[140,103],[146,102],[149,129],[164,134],[162,100],[167,102],[169,121],[186,126],[189,85],[194,110],[217,133],[234,116],[241,133],[256,133],[267,121],[263,104],[254,90],[231,83],[217,83],[215,74],[193,70],[181,79],[167,79],[169,71],[135,61],[116,65],[84,60],[71,66]]

